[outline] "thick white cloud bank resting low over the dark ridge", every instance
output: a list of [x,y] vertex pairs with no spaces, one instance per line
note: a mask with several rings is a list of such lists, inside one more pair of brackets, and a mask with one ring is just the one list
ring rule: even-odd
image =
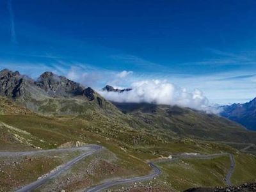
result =
[[209,106],[209,100],[200,90],[188,92],[172,83],[161,80],[138,81],[131,84],[130,92],[103,92],[99,93],[114,102],[147,102],[153,104],[177,105],[211,113],[217,113]]

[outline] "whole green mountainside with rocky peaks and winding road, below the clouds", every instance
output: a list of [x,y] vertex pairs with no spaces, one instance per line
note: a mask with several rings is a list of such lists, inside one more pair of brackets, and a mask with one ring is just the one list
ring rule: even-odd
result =
[[40,86],[18,72],[0,74],[2,191],[184,191],[255,182],[256,133],[226,118],[112,103],[49,72]]

